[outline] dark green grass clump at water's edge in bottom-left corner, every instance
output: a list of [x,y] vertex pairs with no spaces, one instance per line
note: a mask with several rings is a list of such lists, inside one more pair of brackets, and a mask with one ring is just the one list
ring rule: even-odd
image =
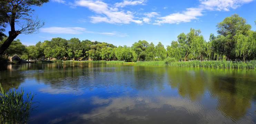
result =
[[24,98],[24,90],[17,92],[15,89],[7,92],[0,84],[0,123],[1,124],[27,124],[31,112],[35,110],[32,102],[34,94],[27,93]]

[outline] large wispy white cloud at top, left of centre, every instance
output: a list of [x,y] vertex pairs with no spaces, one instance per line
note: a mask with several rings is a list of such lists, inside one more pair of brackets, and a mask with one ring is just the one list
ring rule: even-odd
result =
[[119,10],[118,8],[111,8],[107,3],[102,1],[90,1],[90,0],[78,0],[75,1],[75,6],[87,7],[90,10],[101,14],[97,16],[91,16],[92,23],[107,22],[112,24],[128,24],[135,22],[141,24],[142,21],[134,20],[133,13],[130,11]]

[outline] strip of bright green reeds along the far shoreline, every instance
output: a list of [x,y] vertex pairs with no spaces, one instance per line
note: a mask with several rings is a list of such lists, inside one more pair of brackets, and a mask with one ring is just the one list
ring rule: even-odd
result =
[[130,65],[148,65],[148,66],[170,66],[170,67],[203,67],[203,68],[218,68],[218,69],[256,69],[256,60],[252,61],[186,61],[186,62],[167,62],[165,61],[139,61],[139,62],[124,62],[124,61],[38,61],[37,63],[107,63],[107,64],[130,64]]

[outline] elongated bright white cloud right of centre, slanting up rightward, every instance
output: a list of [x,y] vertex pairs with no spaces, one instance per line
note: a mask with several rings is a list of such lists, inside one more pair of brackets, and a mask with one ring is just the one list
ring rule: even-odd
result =
[[203,9],[201,8],[188,8],[187,11],[184,11],[182,13],[173,13],[165,17],[159,17],[158,19],[161,19],[161,20],[156,20],[156,22],[158,24],[161,24],[161,23],[179,24],[180,22],[190,22],[193,19],[197,19],[198,16],[202,16],[203,15],[201,13],[202,11]]

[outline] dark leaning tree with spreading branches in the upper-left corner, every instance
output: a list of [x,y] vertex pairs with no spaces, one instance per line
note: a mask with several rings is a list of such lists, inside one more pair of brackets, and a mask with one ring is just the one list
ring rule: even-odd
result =
[[[5,27],[10,26],[9,36],[0,47],[0,54],[10,46],[12,41],[19,34],[38,33],[38,29],[45,23],[32,17],[32,6],[42,6],[49,0],[1,0],[0,1],[0,24]],[[19,28],[16,26],[18,25]]]

